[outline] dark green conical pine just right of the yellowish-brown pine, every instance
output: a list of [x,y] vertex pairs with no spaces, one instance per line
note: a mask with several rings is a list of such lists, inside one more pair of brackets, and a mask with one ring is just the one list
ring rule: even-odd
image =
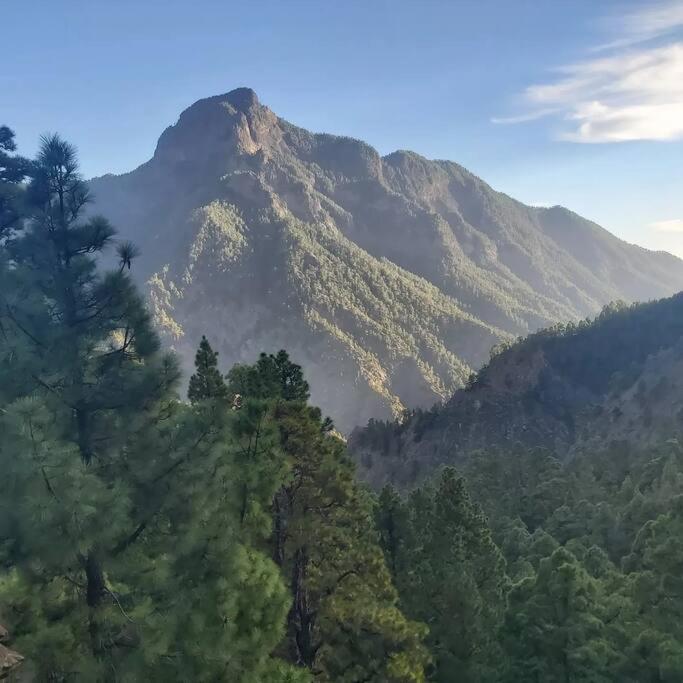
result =
[[[384,501],[394,509],[392,524],[405,525],[395,500],[385,495]],[[446,469],[436,488],[415,491],[407,526],[392,534],[404,558],[397,563],[396,583],[406,614],[429,625],[432,680],[497,680],[507,579],[487,520],[464,480]],[[391,558],[386,540],[384,549]]]

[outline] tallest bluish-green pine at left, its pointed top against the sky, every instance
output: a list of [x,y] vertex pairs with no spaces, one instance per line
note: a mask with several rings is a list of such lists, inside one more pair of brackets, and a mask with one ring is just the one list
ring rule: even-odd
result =
[[[2,352],[25,397],[8,397],[16,400],[4,411],[0,453],[15,580],[40,596],[35,618],[61,604],[60,630],[47,638],[54,649],[44,650],[43,662],[63,670],[73,663],[59,651],[76,651],[95,675],[122,628],[106,564],[135,528],[137,473],[121,479],[133,467],[129,438],[154,419],[178,372],[158,353],[123,268],[97,272],[94,255],[114,231],[100,217],[83,217],[87,201],[75,150],[45,138],[28,187],[26,228],[5,246],[11,267],[0,294],[8,331]],[[37,630],[32,638],[45,637]],[[61,638],[77,644],[62,648]]]

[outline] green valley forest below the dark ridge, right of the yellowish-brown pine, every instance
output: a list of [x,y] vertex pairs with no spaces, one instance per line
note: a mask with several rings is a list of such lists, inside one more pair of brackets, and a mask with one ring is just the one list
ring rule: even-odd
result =
[[386,487],[382,546],[429,627],[430,680],[681,680],[682,496],[677,442],[568,465],[480,453],[462,478]]

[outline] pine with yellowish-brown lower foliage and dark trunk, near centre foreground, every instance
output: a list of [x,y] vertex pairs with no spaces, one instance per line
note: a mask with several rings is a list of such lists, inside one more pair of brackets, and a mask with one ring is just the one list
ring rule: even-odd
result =
[[245,408],[249,387],[270,405],[288,471],[272,499],[270,543],[292,597],[282,656],[320,681],[423,681],[423,631],[397,606],[370,500],[341,440],[305,403],[300,368],[288,363],[284,352],[262,355],[230,373]]

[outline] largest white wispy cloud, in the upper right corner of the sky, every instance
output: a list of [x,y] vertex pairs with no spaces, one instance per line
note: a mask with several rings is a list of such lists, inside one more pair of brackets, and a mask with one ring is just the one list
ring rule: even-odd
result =
[[621,37],[599,47],[608,55],[555,69],[524,90],[522,112],[492,121],[555,115],[558,137],[583,143],[683,138],[683,0],[650,3],[617,24]]

